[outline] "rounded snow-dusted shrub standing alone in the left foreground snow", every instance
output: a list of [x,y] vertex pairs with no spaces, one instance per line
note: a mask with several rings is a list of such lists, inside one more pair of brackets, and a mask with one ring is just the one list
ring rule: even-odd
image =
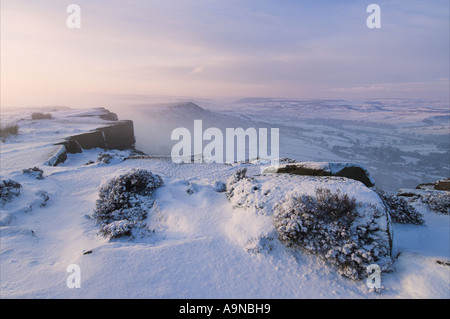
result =
[[159,175],[138,169],[108,181],[99,190],[94,219],[100,233],[116,238],[133,228],[145,227],[143,220],[153,205],[152,193],[162,185]]

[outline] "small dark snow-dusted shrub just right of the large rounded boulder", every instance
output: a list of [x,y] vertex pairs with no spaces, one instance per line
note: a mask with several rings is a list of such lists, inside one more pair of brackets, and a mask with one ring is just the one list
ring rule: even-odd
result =
[[405,198],[387,194],[380,189],[375,190],[386,206],[394,223],[422,225],[423,215],[419,213]]

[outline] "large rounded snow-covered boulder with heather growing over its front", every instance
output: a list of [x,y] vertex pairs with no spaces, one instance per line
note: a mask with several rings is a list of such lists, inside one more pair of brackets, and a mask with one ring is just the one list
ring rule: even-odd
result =
[[391,220],[378,194],[332,176],[262,174],[238,169],[227,181],[233,207],[271,216],[280,242],[316,254],[351,279],[391,266]]

